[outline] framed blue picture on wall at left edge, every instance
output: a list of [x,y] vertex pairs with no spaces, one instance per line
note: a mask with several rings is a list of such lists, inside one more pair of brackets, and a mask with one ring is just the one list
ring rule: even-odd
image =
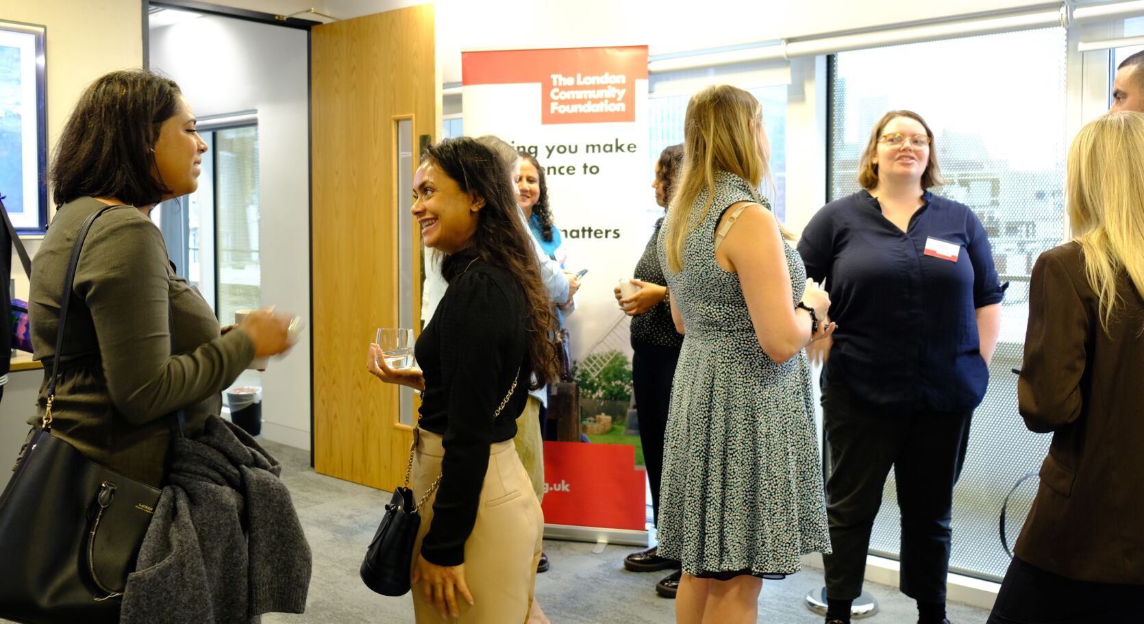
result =
[[21,233],[48,221],[45,27],[0,19],[0,194]]

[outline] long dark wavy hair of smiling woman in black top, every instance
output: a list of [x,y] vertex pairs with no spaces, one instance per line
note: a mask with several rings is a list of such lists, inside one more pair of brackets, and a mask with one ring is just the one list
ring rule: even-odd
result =
[[477,213],[471,249],[482,261],[508,271],[524,293],[529,307],[525,327],[529,362],[535,376],[530,387],[537,390],[555,382],[559,360],[551,336],[557,334],[559,326],[540,280],[532,237],[521,222],[521,209],[505,162],[487,145],[470,137],[446,138],[429,145],[421,162],[429,160],[453,178],[461,191],[485,200]]

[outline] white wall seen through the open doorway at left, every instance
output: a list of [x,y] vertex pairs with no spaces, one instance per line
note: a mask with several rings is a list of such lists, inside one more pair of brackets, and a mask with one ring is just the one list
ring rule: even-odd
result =
[[[205,16],[153,29],[150,42],[152,69],[178,82],[199,118],[257,111],[262,304],[308,319],[307,32]],[[289,357],[271,361],[262,394],[263,435],[310,448],[309,330]]]

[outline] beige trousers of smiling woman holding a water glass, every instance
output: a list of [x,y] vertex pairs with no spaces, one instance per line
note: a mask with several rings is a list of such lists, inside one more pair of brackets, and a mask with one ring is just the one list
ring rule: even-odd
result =
[[[533,416],[535,418],[535,415]],[[413,499],[419,501],[437,475],[445,449],[440,435],[414,430]],[[413,545],[414,562],[421,541],[432,525],[432,504],[421,509],[421,527]],[[488,470],[480,487],[480,506],[472,533],[464,542],[464,581],[472,593],[470,607],[458,595],[462,624],[524,623],[532,608],[537,562],[543,538],[545,517],[532,491],[529,475],[511,442],[490,448]],[[418,624],[442,622],[432,602],[426,599],[421,583],[413,584],[413,613]]]

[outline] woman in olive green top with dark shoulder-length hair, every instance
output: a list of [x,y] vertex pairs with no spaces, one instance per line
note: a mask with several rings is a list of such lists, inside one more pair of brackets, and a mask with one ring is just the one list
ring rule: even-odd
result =
[[[220,392],[255,357],[287,344],[287,317],[260,311],[221,335],[206,301],[175,275],[159,229],[159,201],[193,192],[207,146],[178,86],[148,71],[112,72],[80,96],[55,150],[57,211],[32,262],[35,359],[47,377],[67,261],[80,224],[105,206],[76,271],[53,405],[53,429],[90,459],[159,486],[173,424],[186,434],[222,407]],[[174,336],[172,336],[174,328]]]

